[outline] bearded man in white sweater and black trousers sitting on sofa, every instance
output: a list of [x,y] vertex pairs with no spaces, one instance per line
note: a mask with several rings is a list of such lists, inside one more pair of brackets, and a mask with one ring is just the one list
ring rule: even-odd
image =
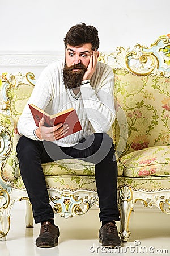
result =
[[[107,135],[115,118],[113,71],[97,62],[99,38],[94,26],[82,23],[71,27],[64,43],[65,59],[42,71],[18,121],[22,135],[16,147],[19,168],[35,223],[41,223],[36,246],[56,246],[59,237],[41,164],[68,158],[95,164],[101,221],[99,241],[106,247],[120,246],[115,225],[119,220],[117,163],[113,141]],[[29,110],[30,103],[50,115],[74,108],[82,130],[66,136],[67,123],[46,127],[44,118],[37,127]]]

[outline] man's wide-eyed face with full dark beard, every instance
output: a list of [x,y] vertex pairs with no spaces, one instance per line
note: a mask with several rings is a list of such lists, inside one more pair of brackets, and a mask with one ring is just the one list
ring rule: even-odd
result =
[[63,81],[66,88],[71,89],[81,85],[92,52],[91,43],[83,44],[83,46],[78,47],[67,46],[65,67],[63,68]]

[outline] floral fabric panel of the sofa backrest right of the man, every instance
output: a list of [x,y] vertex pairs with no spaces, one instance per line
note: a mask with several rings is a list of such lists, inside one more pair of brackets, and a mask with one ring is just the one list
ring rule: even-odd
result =
[[[124,69],[115,71],[117,122],[128,125],[128,139],[123,155],[132,151],[170,143],[170,79],[137,76]],[[124,120],[121,120],[124,113]],[[115,133],[116,133],[115,131]],[[115,141],[118,144],[119,137]]]

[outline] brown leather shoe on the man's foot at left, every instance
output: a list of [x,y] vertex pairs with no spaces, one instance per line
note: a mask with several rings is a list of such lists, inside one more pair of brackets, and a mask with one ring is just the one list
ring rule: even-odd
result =
[[39,237],[36,239],[37,247],[54,247],[58,245],[59,229],[49,221],[41,225]]

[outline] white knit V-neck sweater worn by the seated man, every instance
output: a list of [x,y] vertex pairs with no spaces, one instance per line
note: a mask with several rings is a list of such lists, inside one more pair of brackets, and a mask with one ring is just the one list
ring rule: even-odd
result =
[[42,71],[35,88],[18,121],[21,135],[36,140],[33,131],[37,128],[28,103],[33,103],[50,115],[69,108],[78,114],[82,130],[54,141],[59,146],[74,146],[94,132],[107,132],[114,122],[113,71],[104,63],[97,63],[90,81],[80,86],[75,95],[63,84],[64,60],[55,61]]

